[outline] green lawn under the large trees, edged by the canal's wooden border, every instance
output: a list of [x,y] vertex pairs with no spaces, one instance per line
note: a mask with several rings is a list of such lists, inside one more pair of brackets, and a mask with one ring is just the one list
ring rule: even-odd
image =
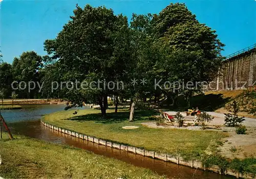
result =
[[[61,111],[43,117],[46,122],[78,133],[100,139],[129,144],[147,150],[155,150],[170,155],[181,155],[186,158],[200,158],[202,152],[227,135],[212,131],[191,131],[179,129],[153,129],[140,123],[154,115],[153,111],[136,111],[135,122],[129,122],[129,111],[114,113],[108,110],[108,117],[101,118],[99,110]],[[125,130],[122,126],[136,125],[138,129]]]

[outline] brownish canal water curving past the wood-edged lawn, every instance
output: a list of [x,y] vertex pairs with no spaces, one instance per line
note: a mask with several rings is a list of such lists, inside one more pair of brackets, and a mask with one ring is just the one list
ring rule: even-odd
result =
[[61,111],[64,108],[64,105],[26,105],[21,110],[4,110],[1,111],[1,113],[8,122],[13,134],[24,135],[47,142],[68,144],[74,147],[79,147],[92,151],[97,155],[115,158],[126,163],[131,163],[135,166],[151,169],[160,175],[164,174],[171,178],[234,178],[232,176],[202,171],[196,168],[164,162],[158,159],[143,157],[138,154],[136,155],[131,152],[98,145],[90,141],[84,141],[68,136],[67,134],[56,132],[40,124],[39,119],[42,115]]

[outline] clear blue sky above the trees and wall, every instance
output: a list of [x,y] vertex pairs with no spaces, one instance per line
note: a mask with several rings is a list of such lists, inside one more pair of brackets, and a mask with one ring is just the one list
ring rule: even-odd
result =
[[132,13],[159,13],[170,3],[185,3],[201,23],[217,31],[226,44],[223,55],[229,55],[256,43],[256,1],[8,1],[1,2],[1,48],[3,60],[12,63],[14,57],[34,50],[46,55],[43,43],[53,39],[68,22],[76,3],[112,8],[129,19]]

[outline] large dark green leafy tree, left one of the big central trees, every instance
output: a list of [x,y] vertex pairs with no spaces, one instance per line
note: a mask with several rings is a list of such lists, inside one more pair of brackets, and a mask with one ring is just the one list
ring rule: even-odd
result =
[[[91,83],[98,80],[122,81],[127,79],[125,67],[132,60],[127,18],[115,15],[105,7],[84,9],[76,7],[74,16],[64,25],[54,40],[45,41],[45,49],[53,59],[58,59],[63,73],[62,80]],[[132,64],[131,64],[132,65]],[[116,90],[104,88],[64,88],[66,98],[79,106],[82,102],[99,104],[105,116],[107,97],[117,95]]]

